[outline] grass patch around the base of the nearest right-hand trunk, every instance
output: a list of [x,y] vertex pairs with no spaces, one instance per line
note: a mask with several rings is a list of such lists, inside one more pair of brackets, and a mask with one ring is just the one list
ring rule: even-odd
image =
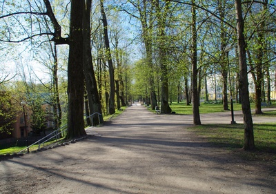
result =
[[[237,152],[241,157],[276,164],[276,123],[254,124],[256,151]],[[241,151],[244,144],[243,124],[208,124],[190,128],[208,142],[232,151]]]

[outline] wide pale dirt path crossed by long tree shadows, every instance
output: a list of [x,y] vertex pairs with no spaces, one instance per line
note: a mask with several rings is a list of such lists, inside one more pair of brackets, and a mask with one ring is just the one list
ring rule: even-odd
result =
[[[230,114],[201,122],[230,123]],[[75,144],[1,161],[0,193],[275,193],[268,168],[195,137],[192,123],[131,106]]]

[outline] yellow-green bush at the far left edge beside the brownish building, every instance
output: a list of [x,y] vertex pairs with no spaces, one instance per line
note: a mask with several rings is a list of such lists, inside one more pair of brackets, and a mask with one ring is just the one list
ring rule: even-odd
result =
[[10,93],[0,91],[0,133],[10,134],[12,124],[15,122],[17,108],[12,104]]

